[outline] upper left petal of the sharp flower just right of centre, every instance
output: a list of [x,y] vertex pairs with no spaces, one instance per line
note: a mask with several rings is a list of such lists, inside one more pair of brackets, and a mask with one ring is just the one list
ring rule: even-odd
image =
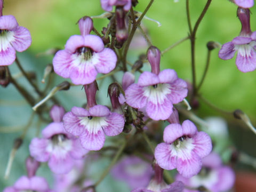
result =
[[160,83],[159,77],[149,71],[143,72],[138,79],[139,86],[156,85],[158,83]]

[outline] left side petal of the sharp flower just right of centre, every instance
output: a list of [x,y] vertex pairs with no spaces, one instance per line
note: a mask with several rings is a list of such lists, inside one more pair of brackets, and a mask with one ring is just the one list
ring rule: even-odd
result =
[[125,90],[126,103],[134,108],[143,108],[147,103],[147,98],[143,93],[142,87],[135,83],[131,84]]

